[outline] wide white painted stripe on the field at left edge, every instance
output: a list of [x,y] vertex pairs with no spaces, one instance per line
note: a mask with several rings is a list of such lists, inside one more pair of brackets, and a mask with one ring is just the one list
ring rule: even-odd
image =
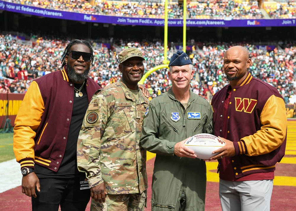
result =
[[0,193],[22,185],[20,164],[15,159],[0,163]]

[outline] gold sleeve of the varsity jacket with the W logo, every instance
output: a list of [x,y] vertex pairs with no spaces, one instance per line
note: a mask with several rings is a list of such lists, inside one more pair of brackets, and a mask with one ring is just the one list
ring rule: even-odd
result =
[[242,138],[247,150],[241,154],[249,156],[267,154],[278,148],[286,137],[287,118],[285,103],[282,98],[271,95],[260,115],[262,124],[255,134]]

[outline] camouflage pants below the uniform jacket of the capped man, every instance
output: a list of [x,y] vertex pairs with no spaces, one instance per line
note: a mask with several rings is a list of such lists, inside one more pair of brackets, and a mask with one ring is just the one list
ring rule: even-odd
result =
[[144,211],[147,203],[147,190],[137,194],[107,194],[105,203],[91,199],[90,211]]

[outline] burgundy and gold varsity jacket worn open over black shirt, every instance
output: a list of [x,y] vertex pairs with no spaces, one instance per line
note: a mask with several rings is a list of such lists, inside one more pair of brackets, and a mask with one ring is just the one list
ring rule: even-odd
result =
[[[98,89],[96,82],[86,79],[88,102]],[[66,149],[73,96],[74,83],[69,81],[65,67],[31,83],[14,127],[13,150],[21,168],[34,168],[35,162],[58,171]]]

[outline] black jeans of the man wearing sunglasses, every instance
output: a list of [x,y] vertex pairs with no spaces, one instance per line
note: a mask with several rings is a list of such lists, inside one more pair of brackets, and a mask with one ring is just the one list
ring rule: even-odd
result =
[[80,190],[80,177],[75,178],[39,178],[40,192],[32,198],[32,210],[84,211],[90,199],[90,190]]

